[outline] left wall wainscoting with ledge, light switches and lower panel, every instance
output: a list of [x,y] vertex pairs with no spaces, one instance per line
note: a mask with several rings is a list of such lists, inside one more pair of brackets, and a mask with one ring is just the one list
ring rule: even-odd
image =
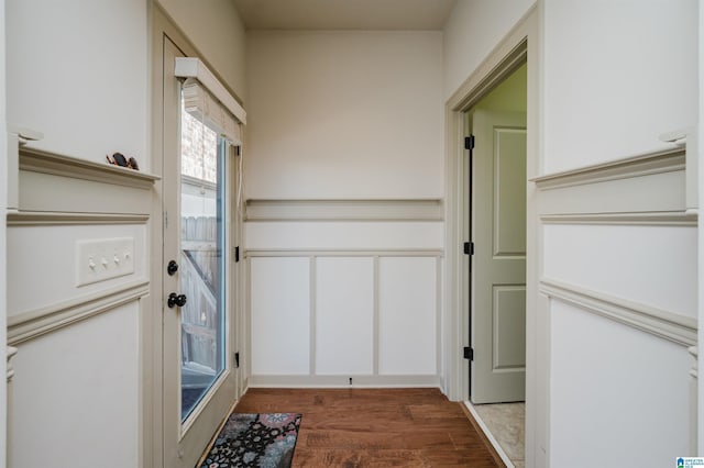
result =
[[140,466],[156,177],[31,147],[15,156],[7,213],[8,344],[16,349],[9,465],[72,466],[79,457]]

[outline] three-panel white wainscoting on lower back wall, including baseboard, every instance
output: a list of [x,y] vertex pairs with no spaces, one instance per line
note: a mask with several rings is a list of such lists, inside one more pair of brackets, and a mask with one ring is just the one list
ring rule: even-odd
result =
[[248,255],[250,386],[439,385],[439,253]]

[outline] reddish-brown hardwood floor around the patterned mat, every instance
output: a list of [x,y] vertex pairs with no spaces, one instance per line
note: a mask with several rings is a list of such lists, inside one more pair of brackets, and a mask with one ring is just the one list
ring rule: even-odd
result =
[[438,389],[250,389],[234,411],[301,413],[293,467],[504,466]]

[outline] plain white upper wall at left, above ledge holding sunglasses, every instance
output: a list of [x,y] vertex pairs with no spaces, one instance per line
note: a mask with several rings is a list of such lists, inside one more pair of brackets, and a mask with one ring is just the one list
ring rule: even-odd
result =
[[146,13],[144,0],[8,1],[8,123],[42,132],[36,147],[147,168]]

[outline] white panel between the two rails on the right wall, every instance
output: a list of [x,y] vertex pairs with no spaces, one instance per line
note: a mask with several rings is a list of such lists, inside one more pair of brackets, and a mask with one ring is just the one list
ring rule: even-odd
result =
[[696,316],[696,227],[548,224],[543,239],[546,278]]

